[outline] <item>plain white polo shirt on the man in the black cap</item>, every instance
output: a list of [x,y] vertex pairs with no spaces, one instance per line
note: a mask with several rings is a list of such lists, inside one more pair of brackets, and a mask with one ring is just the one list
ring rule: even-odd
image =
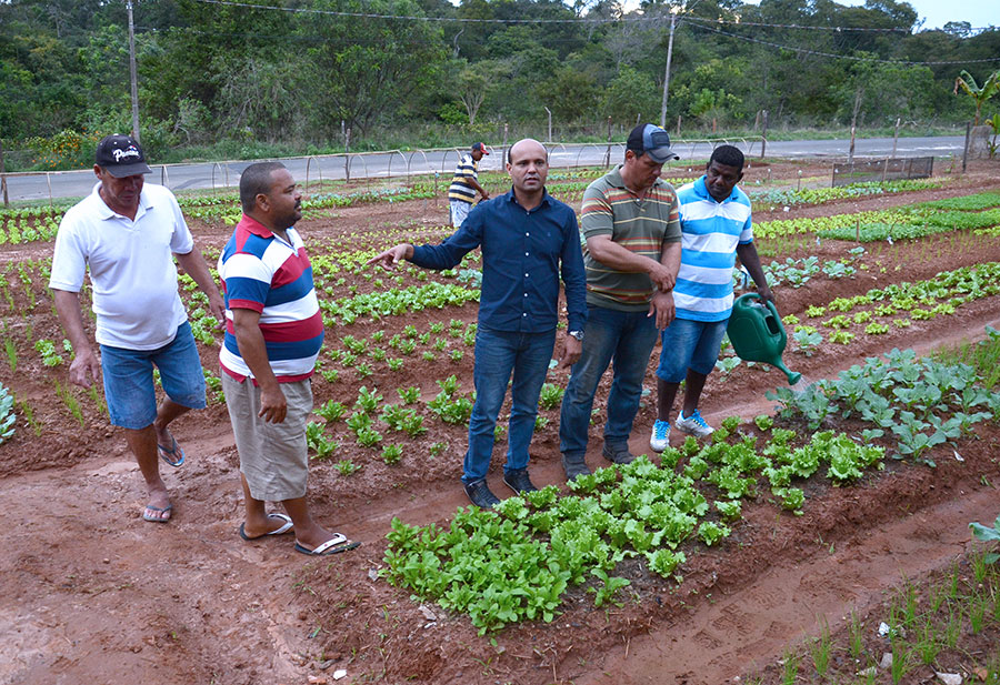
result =
[[191,231],[162,185],[143,185],[134,221],[111,211],[100,187],[62,218],[49,288],[80,292],[90,266],[97,341],[127,350],[162,347],[188,319],[172,253],[194,249]]

